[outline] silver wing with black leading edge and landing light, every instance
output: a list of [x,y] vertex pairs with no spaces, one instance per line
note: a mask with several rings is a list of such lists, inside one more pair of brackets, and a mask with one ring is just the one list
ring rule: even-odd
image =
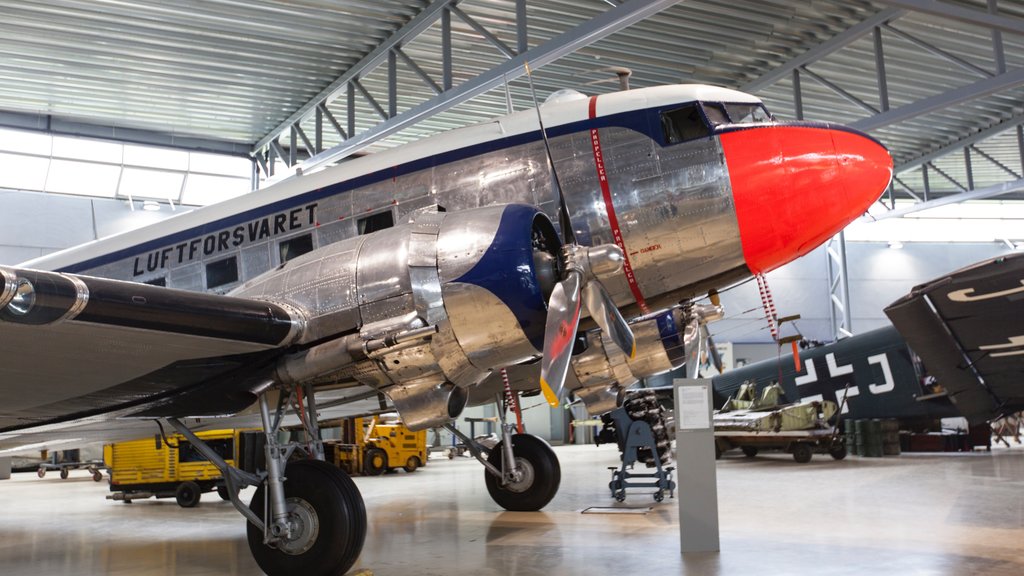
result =
[[[212,416],[248,407],[296,338],[274,303],[0,268],[0,448],[24,428],[99,415]],[[108,423],[108,427],[110,427]]]

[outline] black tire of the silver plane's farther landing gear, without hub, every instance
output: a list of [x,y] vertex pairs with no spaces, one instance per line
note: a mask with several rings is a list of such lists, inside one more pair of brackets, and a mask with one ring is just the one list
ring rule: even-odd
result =
[[[502,468],[504,460],[505,450],[502,444],[499,442],[487,454],[487,462],[498,469]],[[558,492],[558,485],[562,481],[558,456],[547,442],[528,434],[512,436],[512,454],[516,460],[523,460],[528,464],[532,479],[524,481],[523,486],[512,488],[502,486],[500,478],[484,470],[483,480],[487,485],[487,492],[498,505],[507,510],[537,511],[546,506]]]

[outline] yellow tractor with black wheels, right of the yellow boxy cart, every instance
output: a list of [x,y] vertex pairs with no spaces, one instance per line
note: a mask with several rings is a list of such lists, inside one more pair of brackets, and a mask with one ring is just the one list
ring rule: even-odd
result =
[[359,416],[321,427],[341,428],[338,440],[324,441],[324,452],[328,462],[350,475],[379,476],[399,467],[413,472],[427,463],[427,431],[414,433],[397,419]]

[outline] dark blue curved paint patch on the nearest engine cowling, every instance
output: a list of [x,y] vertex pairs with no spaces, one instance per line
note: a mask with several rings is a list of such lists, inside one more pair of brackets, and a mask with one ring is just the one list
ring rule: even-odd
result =
[[534,347],[542,351],[548,306],[534,270],[530,232],[537,213],[537,208],[524,204],[506,207],[494,242],[455,282],[479,286],[497,296],[515,316]]

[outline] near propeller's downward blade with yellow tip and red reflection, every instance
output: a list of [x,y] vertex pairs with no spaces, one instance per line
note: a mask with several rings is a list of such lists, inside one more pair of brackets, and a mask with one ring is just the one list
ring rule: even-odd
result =
[[544,327],[544,358],[541,360],[541,390],[552,407],[561,402],[565,374],[569,369],[577,328],[580,326],[580,273],[570,272],[555,285],[548,301]]

